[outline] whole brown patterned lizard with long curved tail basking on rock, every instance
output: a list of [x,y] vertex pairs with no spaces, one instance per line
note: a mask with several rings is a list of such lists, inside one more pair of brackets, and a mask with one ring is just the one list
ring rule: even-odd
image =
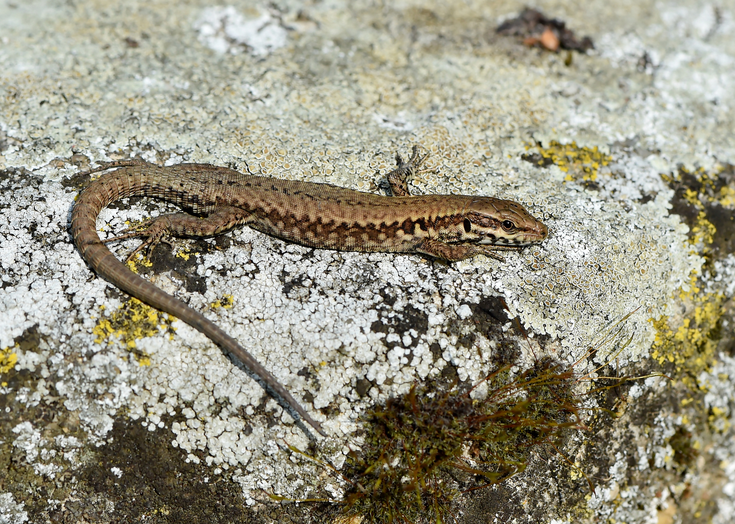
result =
[[[547,226],[514,201],[490,196],[409,194],[409,176],[434,171],[421,169],[428,156],[420,156],[417,146],[408,161],[396,154],[397,167],[387,174],[391,195],[257,176],[209,164],[161,166],[143,159],[101,162],[87,174],[107,173],[77,196],[71,212],[71,234],[82,258],[98,276],[204,333],[257,375],[271,395],[275,393],[326,437],[320,424],[237,340],[200,312],[129,270],[105,244],[145,238],[128,256],[131,260],[143,249],[150,253],[158,243],[171,244],[169,237],[209,237],[248,225],[312,248],[415,253],[456,262],[478,254],[504,261],[496,251],[523,248],[548,237]],[[136,195],[176,204],[184,212],[159,215],[101,240],[96,232],[101,209]]]

